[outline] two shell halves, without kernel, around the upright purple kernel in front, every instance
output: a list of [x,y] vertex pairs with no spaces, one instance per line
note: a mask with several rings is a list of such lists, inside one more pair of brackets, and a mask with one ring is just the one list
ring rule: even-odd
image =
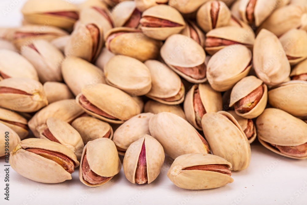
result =
[[143,136],[129,146],[124,157],[124,173],[131,183],[135,183],[135,172],[144,141],[146,150],[147,183],[151,183],[157,178],[163,166],[165,155],[162,145],[150,135]]

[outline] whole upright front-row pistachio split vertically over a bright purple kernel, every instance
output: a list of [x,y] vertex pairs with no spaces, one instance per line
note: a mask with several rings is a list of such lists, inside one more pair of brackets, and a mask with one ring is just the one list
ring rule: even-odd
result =
[[131,183],[151,183],[160,174],[164,158],[162,145],[152,136],[145,135],[126,151],[123,161],[125,176]]

